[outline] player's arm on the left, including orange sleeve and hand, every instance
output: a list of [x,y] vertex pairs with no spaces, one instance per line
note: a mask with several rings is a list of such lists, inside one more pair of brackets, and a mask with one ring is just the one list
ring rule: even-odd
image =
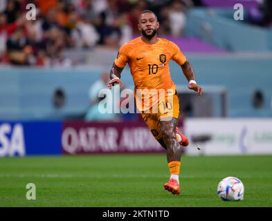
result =
[[128,51],[129,50],[127,44],[121,46],[109,73],[109,78],[111,80],[109,81],[108,88],[111,88],[114,84],[119,84],[120,86],[122,86],[122,81],[120,80],[120,77],[122,70],[125,68],[125,65],[129,61]]

